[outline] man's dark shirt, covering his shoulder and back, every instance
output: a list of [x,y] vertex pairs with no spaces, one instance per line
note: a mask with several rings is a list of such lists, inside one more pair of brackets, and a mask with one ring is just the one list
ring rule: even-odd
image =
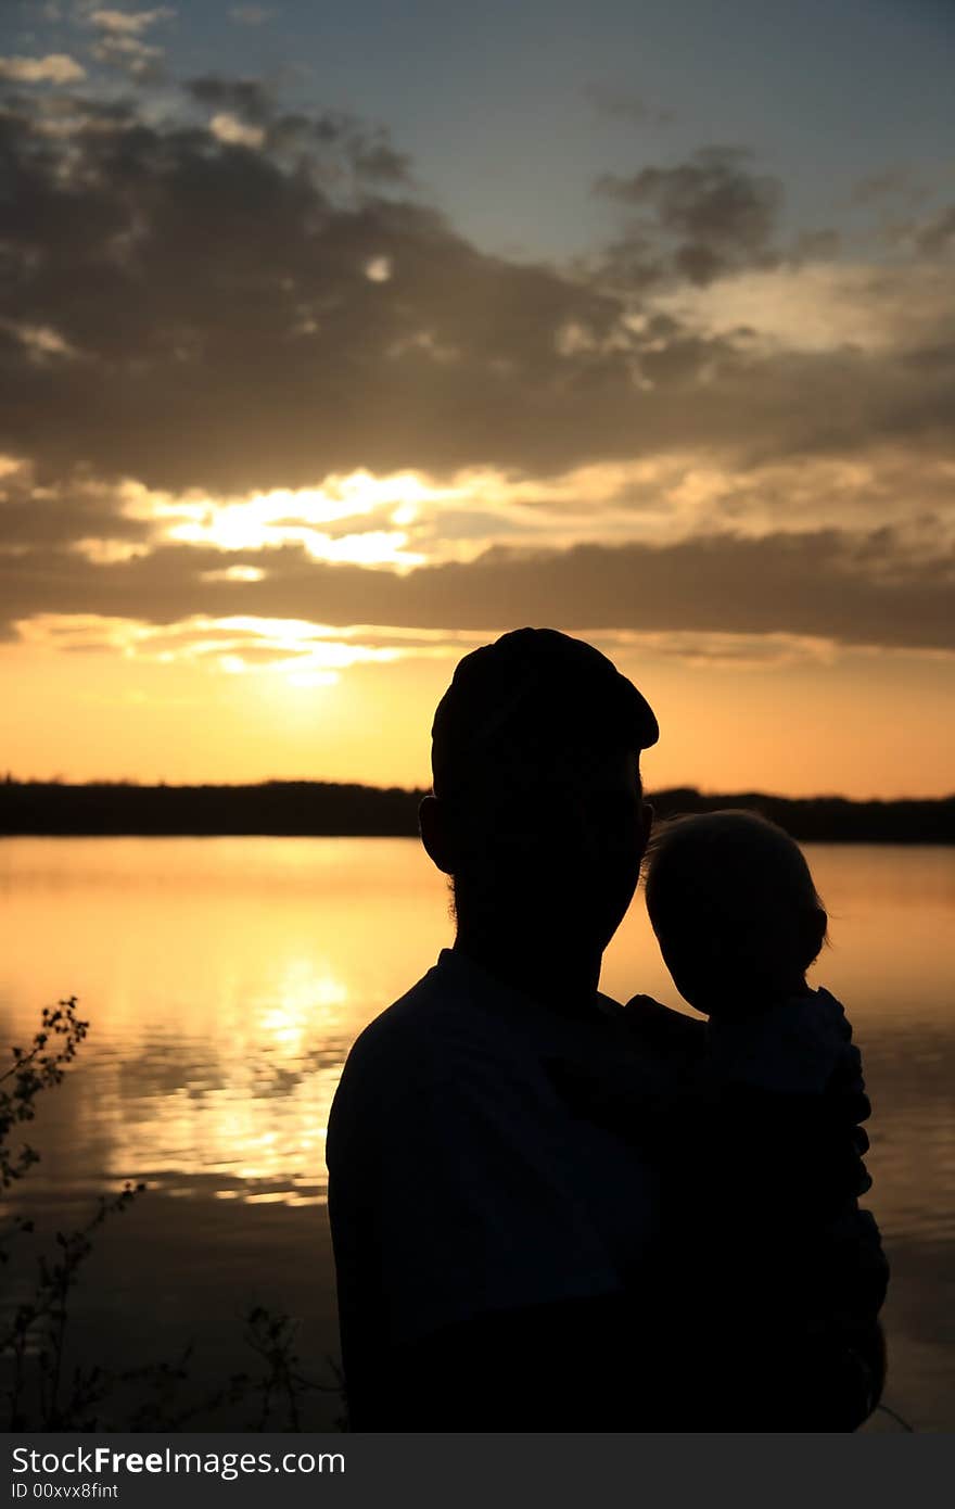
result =
[[355,1043],[329,1118],[329,1215],[349,1387],[382,1349],[481,1314],[623,1292],[658,1180],[576,1118],[548,1071],[599,1065],[617,1002],[549,1010],[459,951]]

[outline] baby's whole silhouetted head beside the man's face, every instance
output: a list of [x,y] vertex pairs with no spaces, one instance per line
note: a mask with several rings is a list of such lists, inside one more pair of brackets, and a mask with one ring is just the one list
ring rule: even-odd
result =
[[677,990],[708,1016],[798,994],[825,942],[828,919],[798,844],[754,812],[661,822],[646,896]]

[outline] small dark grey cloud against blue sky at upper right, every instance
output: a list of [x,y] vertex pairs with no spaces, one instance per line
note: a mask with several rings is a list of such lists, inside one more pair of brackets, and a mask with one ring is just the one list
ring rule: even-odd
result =
[[782,184],[750,172],[748,158],[741,148],[709,146],[676,167],[643,167],[632,178],[605,174],[599,193],[644,211],[617,257],[629,243],[637,266],[700,285],[739,267],[774,266]]

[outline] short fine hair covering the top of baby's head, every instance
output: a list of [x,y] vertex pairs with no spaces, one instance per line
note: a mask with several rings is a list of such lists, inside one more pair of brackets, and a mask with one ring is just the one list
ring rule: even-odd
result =
[[804,973],[827,939],[825,907],[800,845],[756,812],[723,809],[659,822],[644,859],[656,936],[700,927],[730,940],[765,939]]

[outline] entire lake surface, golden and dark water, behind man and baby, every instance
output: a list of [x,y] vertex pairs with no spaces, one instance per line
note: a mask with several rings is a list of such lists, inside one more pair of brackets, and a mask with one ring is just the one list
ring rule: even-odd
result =
[[[831,933],[813,978],[849,1013],[874,1103],[886,1402],[952,1431],[955,850],[806,853]],[[0,922],[0,1043],[26,1044],[63,996],[91,1023],[29,1127],[41,1163],[17,1209],[51,1236],[124,1180],[149,1186],[97,1239],[71,1319],[84,1358],[133,1366],[192,1340],[201,1400],[249,1364],[241,1313],[264,1304],[294,1317],[303,1370],[330,1384],[327,1111],[356,1034],[450,943],[445,878],[410,839],[2,839]],[[640,896],[602,988],[680,1005]],[[15,1271],[8,1304],[26,1284]],[[315,1394],[308,1423],[335,1409]]]

